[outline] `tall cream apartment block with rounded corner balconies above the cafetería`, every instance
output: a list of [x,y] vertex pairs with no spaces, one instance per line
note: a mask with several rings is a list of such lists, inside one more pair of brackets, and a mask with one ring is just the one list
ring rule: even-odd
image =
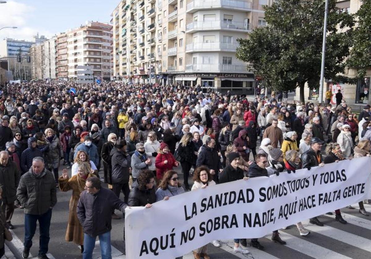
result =
[[111,20],[114,76],[253,92],[237,39],[265,26],[262,5],[271,1],[122,0]]

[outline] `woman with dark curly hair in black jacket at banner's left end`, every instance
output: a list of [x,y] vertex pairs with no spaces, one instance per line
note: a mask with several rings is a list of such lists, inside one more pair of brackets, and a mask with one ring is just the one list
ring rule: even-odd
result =
[[129,193],[128,205],[150,208],[151,204],[156,202],[155,191],[155,178],[152,171],[141,171]]

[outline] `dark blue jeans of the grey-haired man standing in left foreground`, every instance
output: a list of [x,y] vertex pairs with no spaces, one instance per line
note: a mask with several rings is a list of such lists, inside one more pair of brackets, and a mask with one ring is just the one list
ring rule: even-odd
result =
[[49,245],[50,219],[52,219],[52,209],[42,215],[24,214],[24,247],[31,248],[32,238],[36,231],[36,222],[39,221],[40,241],[39,256],[46,255]]

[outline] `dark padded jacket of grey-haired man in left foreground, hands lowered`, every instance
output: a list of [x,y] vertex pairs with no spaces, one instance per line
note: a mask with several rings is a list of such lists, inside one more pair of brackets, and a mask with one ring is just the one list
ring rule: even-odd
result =
[[17,198],[24,206],[24,213],[42,215],[57,203],[57,191],[53,174],[44,168],[37,178],[32,168],[22,175],[17,188]]

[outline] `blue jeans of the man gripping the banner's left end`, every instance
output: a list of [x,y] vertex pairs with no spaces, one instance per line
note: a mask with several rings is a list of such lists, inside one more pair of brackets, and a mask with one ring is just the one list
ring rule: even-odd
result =
[[[101,246],[102,259],[112,259],[111,256],[111,231],[98,236]],[[92,259],[96,236],[92,237],[84,233],[84,252],[82,259]]]

